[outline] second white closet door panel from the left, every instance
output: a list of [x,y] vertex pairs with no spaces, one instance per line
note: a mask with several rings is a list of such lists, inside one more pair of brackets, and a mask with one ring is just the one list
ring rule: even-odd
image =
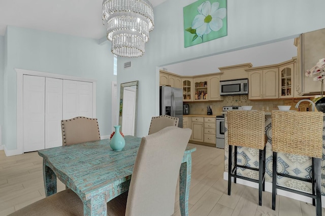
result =
[[45,149],[62,146],[62,88],[62,79],[45,79]]

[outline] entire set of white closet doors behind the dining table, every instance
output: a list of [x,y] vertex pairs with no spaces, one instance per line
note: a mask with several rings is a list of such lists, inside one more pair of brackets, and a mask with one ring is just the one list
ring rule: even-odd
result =
[[95,118],[93,80],[16,70],[17,148],[21,153],[62,146],[62,119]]

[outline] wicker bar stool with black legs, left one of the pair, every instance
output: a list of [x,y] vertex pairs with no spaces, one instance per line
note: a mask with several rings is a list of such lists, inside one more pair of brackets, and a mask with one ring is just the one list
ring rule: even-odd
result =
[[[258,205],[262,205],[262,190],[265,190],[265,112],[264,111],[228,111],[228,195],[231,195],[231,177],[241,178],[246,181],[258,183]],[[233,148],[234,168],[233,163]],[[237,164],[237,147],[248,147],[259,150],[258,168]],[[258,171],[258,179],[237,174],[237,168]]]

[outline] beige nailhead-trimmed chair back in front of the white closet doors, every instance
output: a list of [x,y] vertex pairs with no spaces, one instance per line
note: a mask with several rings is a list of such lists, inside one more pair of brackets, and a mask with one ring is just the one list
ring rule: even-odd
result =
[[101,139],[97,119],[79,116],[62,120],[61,129],[63,146]]

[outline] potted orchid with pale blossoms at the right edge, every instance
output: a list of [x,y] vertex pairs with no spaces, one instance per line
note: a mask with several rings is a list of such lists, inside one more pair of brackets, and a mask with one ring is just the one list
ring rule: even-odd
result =
[[314,99],[316,109],[319,112],[325,113],[325,97],[323,97],[323,87],[324,87],[324,79],[325,79],[325,58],[319,59],[315,66],[313,66],[310,70],[307,70],[305,73],[306,77],[314,77],[314,81],[320,81],[320,97]]

